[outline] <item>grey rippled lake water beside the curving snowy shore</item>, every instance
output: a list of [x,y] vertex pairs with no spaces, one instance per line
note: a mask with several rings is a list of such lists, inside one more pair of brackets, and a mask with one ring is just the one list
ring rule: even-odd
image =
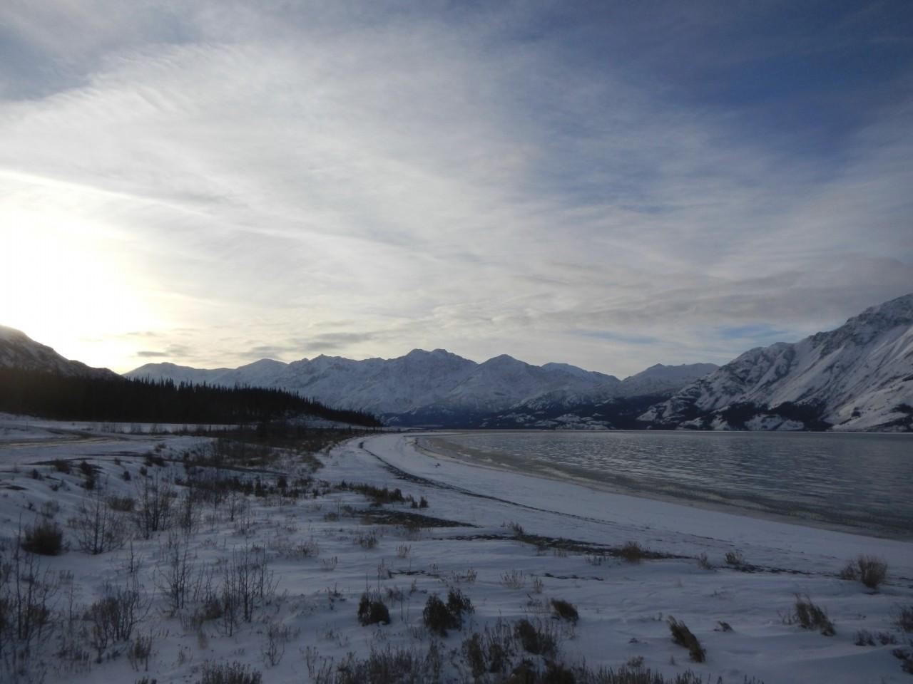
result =
[[432,451],[639,496],[913,539],[913,435],[473,431]]

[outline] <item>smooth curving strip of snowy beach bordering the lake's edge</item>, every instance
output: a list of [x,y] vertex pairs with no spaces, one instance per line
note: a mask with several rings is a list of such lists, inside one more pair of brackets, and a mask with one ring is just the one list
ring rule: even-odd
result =
[[[363,450],[412,475],[503,500],[501,506],[493,506],[498,510],[525,510],[525,515],[541,520],[540,529],[529,530],[537,534],[560,535],[561,524],[549,522],[548,516],[559,520],[571,516],[580,521],[574,533],[586,541],[624,544],[635,534],[645,534],[652,544],[661,545],[657,550],[687,555],[744,547],[752,549],[754,563],[815,573],[836,573],[849,557],[876,554],[901,575],[913,578],[910,542],[609,492],[569,482],[563,476],[545,479],[539,473],[524,475],[483,467],[429,451],[416,443],[420,439],[415,434],[383,435],[364,440]],[[485,515],[494,514],[477,509],[457,519],[485,523]],[[454,510],[461,512],[461,506],[456,504]]]

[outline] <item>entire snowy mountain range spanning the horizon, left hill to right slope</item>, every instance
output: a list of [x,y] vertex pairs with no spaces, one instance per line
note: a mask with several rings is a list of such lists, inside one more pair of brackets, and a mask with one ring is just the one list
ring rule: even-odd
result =
[[[119,377],[0,326],[0,368]],[[913,294],[796,343],[750,349],[722,367],[658,364],[629,378],[444,349],[352,360],[268,358],[240,368],[152,363],[128,378],[288,389],[388,425],[465,428],[913,430]]]

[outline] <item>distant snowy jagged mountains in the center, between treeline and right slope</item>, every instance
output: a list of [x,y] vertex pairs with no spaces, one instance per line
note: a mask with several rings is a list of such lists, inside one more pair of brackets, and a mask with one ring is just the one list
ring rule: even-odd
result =
[[499,411],[572,409],[633,394],[678,389],[717,368],[656,366],[624,381],[568,364],[532,366],[501,355],[476,363],[444,349],[415,349],[404,357],[320,356],[289,364],[263,359],[241,368],[201,370],[154,363],[129,378],[171,378],[209,384],[246,384],[298,391],[324,403],[362,409],[398,425],[475,426]]

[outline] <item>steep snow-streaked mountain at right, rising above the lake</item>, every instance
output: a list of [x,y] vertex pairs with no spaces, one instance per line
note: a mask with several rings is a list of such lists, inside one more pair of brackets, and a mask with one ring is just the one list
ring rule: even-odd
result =
[[913,428],[913,294],[830,332],[758,347],[647,410],[661,427]]

